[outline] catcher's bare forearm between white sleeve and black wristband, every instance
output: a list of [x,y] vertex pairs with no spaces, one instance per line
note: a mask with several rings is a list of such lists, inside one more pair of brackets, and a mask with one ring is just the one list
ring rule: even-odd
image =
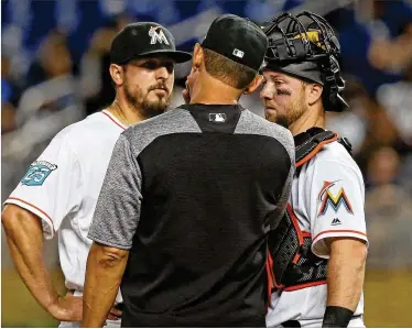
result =
[[359,240],[339,239],[330,243],[327,306],[355,311],[364,286],[366,254],[366,245]]

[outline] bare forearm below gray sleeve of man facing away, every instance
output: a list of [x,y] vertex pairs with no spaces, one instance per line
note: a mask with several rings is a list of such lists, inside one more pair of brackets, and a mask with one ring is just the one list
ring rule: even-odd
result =
[[83,296],[83,327],[104,326],[119,290],[127,260],[127,251],[98,243],[91,245]]

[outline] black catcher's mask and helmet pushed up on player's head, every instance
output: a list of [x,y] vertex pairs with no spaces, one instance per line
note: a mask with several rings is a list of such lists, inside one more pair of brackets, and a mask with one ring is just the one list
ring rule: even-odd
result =
[[317,14],[283,13],[262,26],[269,39],[262,70],[285,73],[307,83],[321,84],[327,111],[340,112],[348,105],[340,96],[345,80],[337,57],[339,42],[332,26]]

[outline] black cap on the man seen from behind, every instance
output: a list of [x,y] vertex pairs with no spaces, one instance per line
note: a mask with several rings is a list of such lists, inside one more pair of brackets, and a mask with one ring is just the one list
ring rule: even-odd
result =
[[268,47],[268,37],[248,19],[223,14],[213,21],[202,46],[259,70]]

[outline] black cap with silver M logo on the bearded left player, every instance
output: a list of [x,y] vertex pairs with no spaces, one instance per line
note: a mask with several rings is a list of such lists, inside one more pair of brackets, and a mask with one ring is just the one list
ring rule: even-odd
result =
[[110,63],[126,64],[137,57],[165,55],[176,63],[192,59],[186,52],[176,51],[174,37],[164,26],[154,22],[139,22],[126,25],[113,39]]

